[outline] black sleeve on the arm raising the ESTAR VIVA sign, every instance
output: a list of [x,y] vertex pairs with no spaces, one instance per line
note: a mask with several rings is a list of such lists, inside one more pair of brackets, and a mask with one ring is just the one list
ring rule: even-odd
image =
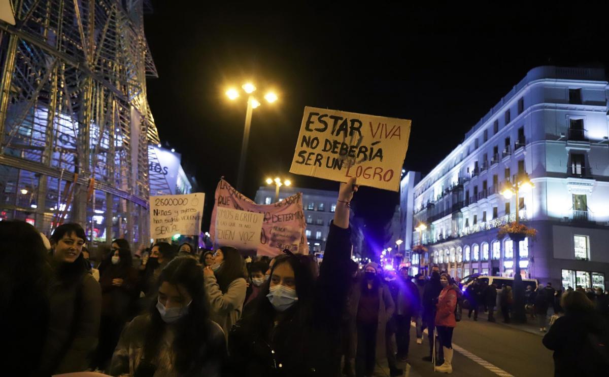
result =
[[318,319],[326,325],[337,325],[342,318],[350,285],[350,257],[351,229],[330,223],[314,303]]

